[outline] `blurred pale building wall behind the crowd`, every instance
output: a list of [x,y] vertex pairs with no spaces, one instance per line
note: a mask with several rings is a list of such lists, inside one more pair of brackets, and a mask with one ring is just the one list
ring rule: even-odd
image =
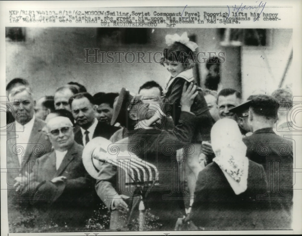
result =
[[[234,87],[243,97],[264,90],[271,93],[278,88],[292,48],[291,29],[267,29],[265,46],[246,45],[236,50],[225,48],[223,29],[173,29],[154,28],[137,31],[131,28],[22,28],[24,38],[6,38],[6,84],[15,77],[27,79],[35,98],[53,95],[54,91],[69,81],[86,86],[88,92],[119,92],[127,87],[136,93],[148,80],[164,86],[169,72],[156,63],[85,64],[84,48],[100,51],[162,51],[166,47],[166,34],[184,31],[199,45],[198,51],[226,51],[227,63],[221,73],[223,87]],[[139,32],[139,34],[137,33]],[[145,35],[146,34],[146,35]],[[240,32],[239,32],[240,34]],[[128,40],[129,39],[129,40]],[[235,40],[240,40],[238,37]],[[93,53],[93,51],[90,51]],[[208,57],[208,54],[206,54]],[[115,57],[117,58],[117,57]],[[129,56],[131,60],[131,56]],[[99,61],[101,56],[99,55]],[[92,57],[89,58],[94,61]],[[198,65],[201,85],[208,73],[206,64]],[[236,72],[236,75],[232,74]],[[283,86],[291,83],[294,72],[289,70]],[[239,81],[238,81],[239,80]]]

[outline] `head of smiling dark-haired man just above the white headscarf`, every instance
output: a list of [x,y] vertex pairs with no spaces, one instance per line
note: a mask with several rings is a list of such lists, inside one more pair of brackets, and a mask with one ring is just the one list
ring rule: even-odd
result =
[[235,89],[226,88],[218,93],[217,105],[220,118],[230,118],[237,120],[236,114],[230,109],[237,107],[241,103],[241,93]]

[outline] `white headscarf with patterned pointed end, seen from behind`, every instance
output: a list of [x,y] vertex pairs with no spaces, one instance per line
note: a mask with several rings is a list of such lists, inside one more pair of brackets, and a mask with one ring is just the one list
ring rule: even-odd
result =
[[216,156],[213,161],[220,167],[235,194],[244,192],[249,161],[236,121],[228,118],[218,120],[211,130],[211,144]]

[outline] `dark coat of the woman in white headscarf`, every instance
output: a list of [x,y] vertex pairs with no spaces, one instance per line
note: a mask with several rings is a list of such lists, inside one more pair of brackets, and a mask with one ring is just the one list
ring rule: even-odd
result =
[[196,182],[190,219],[205,230],[267,229],[269,200],[259,200],[266,188],[263,166],[249,160],[247,189],[236,195],[216,162],[203,169]]

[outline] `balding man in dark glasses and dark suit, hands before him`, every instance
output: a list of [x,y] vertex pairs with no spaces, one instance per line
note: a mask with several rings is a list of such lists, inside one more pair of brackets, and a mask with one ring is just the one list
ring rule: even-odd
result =
[[[37,160],[35,172],[15,179],[21,196],[39,209],[36,226],[54,223],[84,229],[85,220],[93,215],[94,181],[83,166],[83,146],[74,140],[69,114],[56,111],[55,117],[47,119],[44,131],[53,150]],[[34,182],[27,185],[28,179]]]

